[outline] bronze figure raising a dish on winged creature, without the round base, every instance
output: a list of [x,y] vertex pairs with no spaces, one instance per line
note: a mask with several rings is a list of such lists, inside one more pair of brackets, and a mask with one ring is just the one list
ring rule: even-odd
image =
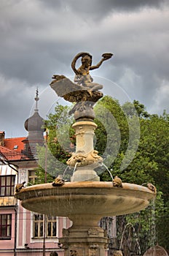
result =
[[[59,97],[63,97],[69,102],[92,101],[90,99],[94,95],[91,91],[98,91],[99,89],[102,89],[103,86],[98,83],[93,83],[93,78],[90,76],[90,70],[98,69],[103,61],[110,59],[111,56],[113,56],[112,53],[103,53],[101,61],[95,66],[92,66],[92,56],[90,53],[78,53],[71,62],[71,67],[76,74],[74,78],[75,83],[64,75],[53,75],[52,78],[54,80],[52,80],[50,86],[56,91]],[[80,57],[82,57],[82,65],[76,69],[76,61]],[[79,91],[81,91],[80,94],[75,94],[75,92]],[[85,92],[82,93],[82,91],[89,91],[88,97],[85,95]],[[86,100],[83,96],[85,96],[84,98]]]

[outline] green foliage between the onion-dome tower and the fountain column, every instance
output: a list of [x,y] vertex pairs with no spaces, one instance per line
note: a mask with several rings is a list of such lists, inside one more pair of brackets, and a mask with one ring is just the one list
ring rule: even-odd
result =
[[70,180],[72,170],[66,166],[66,161],[74,151],[74,130],[71,128],[74,120],[68,115],[69,110],[68,106],[57,103],[55,113],[47,116],[46,145],[38,148],[39,167],[36,168],[36,183],[45,182],[45,169],[47,182],[64,173],[64,178]]

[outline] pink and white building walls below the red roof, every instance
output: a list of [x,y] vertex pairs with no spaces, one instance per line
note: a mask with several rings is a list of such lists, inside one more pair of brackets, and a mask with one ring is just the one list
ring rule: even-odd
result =
[[50,256],[57,252],[62,256],[58,238],[62,237],[63,228],[71,226],[69,219],[27,211],[14,197],[15,184],[34,178],[32,163],[26,165],[16,170],[13,165],[0,165],[0,255],[40,256],[45,252]]

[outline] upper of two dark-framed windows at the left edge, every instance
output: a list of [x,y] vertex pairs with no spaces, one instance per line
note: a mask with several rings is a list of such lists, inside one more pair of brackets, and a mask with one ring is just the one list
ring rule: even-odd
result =
[[0,196],[7,197],[14,195],[15,175],[0,176]]

